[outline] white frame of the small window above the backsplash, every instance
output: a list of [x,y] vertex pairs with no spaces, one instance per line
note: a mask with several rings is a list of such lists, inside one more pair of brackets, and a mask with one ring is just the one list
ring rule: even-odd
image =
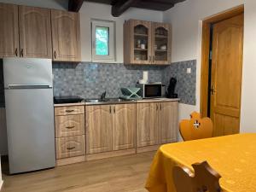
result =
[[[91,60],[115,61],[115,23],[111,20],[91,20]],[[108,27],[108,55],[96,55],[96,27]]]

